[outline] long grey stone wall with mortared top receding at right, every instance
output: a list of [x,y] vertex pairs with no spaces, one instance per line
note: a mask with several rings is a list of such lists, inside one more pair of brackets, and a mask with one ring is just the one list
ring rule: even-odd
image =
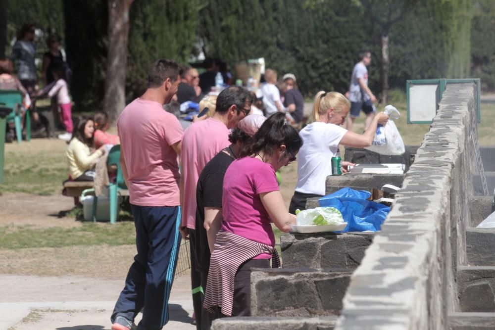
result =
[[475,99],[473,84],[447,86],[381,233],[351,277],[336,329],[446,329],[448,313],[459,310]]

